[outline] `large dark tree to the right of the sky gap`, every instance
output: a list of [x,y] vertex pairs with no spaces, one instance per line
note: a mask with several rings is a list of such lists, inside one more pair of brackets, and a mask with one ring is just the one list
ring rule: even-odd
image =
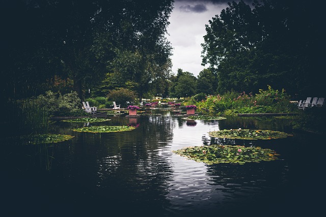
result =
[[290,95],[324,92],[309,79],[322,62],[320,7],[277,0],[253,6],[229,3],[206,25],[202,63],[216,69],[218,91],[272,85]]

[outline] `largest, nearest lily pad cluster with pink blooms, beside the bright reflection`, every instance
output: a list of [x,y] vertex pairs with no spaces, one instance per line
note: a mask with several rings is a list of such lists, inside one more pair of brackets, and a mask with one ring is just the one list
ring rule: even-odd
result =
[[279,156],[274,150],[261,147],[245,147],[240,145],[204,145],[185,147],[173,150],[174,153],[189,160],[203,162],[207,165],[231,163],[245,164],[250,162],[274,161]]

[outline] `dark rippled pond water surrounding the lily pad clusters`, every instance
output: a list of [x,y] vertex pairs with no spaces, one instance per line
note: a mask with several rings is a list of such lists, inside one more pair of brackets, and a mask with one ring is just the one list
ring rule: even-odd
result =
[[[291,132],[286,120],[274,117],[190,123],[170,110],[152,112],[160,115],[130,119],[121,114],[93,123],[135,121],[138,128],[129,132],[77,133],[71,129],[83,123],[53,123],[52,133],[75,137],[47,149],[53,156],[50,171],[43,169],[44,149],[4,148],[2,216],[317,216],[322,210],[326,149],[321,136]],[[208,136],[238,128],[279,130],[293,137]],[[212,143],[270,148],[280,160],[207,166],[172,153]]]

